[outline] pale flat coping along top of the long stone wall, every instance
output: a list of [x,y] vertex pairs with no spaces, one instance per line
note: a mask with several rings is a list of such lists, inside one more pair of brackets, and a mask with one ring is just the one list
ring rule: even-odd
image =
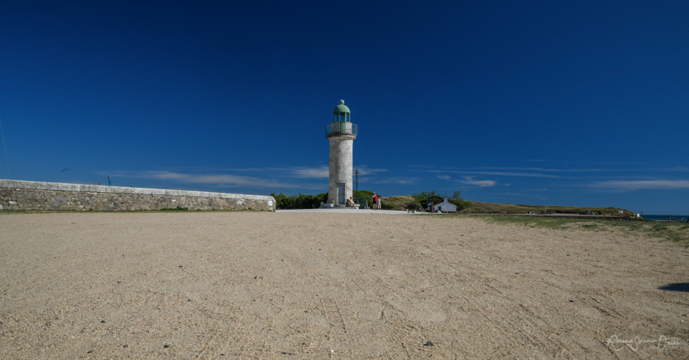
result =
[[247,200],[272,200],[273,196],[230,194],[224,192],[187,191],[168,189],[148,189],[145,187],[117,187],[104,185],[68,184],[65,182],[42,182],[24,180],[0,179],[0,188],[8,189],[32,189],[53,191],[81,191],[100,192],[109,194],[143,194],[143,195],[169,195],[169,196],[197,196],[203,198],[244,198]]

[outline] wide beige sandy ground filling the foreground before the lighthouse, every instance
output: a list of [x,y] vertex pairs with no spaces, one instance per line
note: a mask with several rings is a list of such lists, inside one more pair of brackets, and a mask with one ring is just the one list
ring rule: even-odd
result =
[[688,265],[466,217],[2,214],[0,358],[681,359]]

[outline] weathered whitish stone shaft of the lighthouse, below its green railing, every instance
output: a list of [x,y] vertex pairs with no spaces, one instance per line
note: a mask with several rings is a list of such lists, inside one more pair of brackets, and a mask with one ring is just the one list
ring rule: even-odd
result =
[[345,208],[352,196],[353,134],[332,134],[330,140],[330,169],[328,174],[328,202],[322,208]]

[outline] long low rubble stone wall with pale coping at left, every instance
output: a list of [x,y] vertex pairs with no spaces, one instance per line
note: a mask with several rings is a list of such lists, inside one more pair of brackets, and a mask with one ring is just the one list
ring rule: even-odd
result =
[[0,179],[0,210],[275,211],[272,196]]

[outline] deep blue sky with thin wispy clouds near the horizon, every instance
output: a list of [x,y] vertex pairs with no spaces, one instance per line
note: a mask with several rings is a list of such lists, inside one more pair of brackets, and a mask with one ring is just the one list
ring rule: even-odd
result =
[[[0,177],[689,213],[688,1],[3,1]],[[4,165],[4,157],[2,159]]]

